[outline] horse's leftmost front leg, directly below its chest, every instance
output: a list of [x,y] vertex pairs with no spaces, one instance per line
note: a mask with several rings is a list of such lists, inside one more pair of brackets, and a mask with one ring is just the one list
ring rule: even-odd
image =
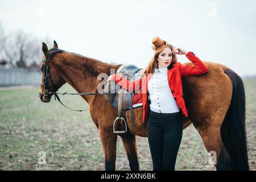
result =
[[114,171],[117,154],[117,135],[113,133],[113,129],[100,129],[99,131],[105,154],[105,169],[106,171]]

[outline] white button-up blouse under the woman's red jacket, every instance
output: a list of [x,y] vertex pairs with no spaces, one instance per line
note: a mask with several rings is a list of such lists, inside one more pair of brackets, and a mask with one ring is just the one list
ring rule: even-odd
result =
[[167,71],[167,67],[155,69],[148,81],[150,110],[156,113],[176,113],[180,111],[168,84]]

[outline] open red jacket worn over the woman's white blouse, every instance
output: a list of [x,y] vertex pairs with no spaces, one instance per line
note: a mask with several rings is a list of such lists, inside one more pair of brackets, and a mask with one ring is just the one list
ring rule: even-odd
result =
[[[193,54],[193,52],[187,53],[187,58],[192,61],[194,65],[182,65],[177,62],[173,66],[173,68],[168,69],[167,77],[169,81],[169,86],[174,96],[174,99],[177,102],[177,105],[180,107],[182,114],[185,117],[188,117],[187,107],[185,106],[185,101],[183,98],[183,90],[182,90],[182,81],[181,77],[184,76],[192,76],[192,75],[201,75],[208,71],[208,68],[204,65],[204,63]],[[117,82],[118,85],[122,86],[126,90],[135,91],[139,89],[139,93],[135,93],[133,97],[133,104],[138,104],[142,102],[143,105],[143,123],[147,121],[148,118],[148,81],[152,74],[148,74],[147,76],[142,76],[138,80],[129,81],[123,79],[123,77],[114,74],[111,77],[111,80]]]

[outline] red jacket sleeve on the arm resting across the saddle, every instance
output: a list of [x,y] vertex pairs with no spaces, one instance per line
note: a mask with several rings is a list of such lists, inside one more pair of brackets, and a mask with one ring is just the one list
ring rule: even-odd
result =
[[140,90],[142,88],[142,77],[135,81],[129,81],[117,74],[114,74],[110,80],[115,81],[118,85],[128,91]]

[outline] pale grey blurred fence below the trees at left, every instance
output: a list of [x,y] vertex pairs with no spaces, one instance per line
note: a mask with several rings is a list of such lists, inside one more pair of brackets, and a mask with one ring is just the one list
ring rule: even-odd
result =
[[41,79],[42,73],[40,71],[22,68],[0,68],[0,86],[38,85]]

